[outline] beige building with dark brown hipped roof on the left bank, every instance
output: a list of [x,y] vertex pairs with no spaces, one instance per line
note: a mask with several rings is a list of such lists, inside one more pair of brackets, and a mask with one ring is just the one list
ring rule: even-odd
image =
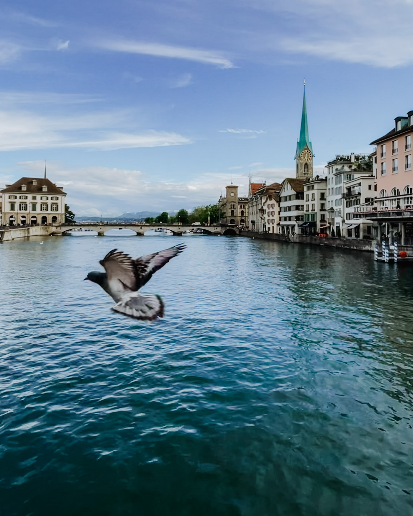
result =
[[63,187],[49,179],[21,178],[2,194],[2,224],[61,224],[65,222]]

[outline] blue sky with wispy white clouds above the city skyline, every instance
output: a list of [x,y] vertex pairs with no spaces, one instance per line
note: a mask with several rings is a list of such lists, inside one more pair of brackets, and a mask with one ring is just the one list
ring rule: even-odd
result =
[[294,175],[303,78],[314,164],[413,109],[412,0],[3,2],[0,184],[77,214],[216,202]]

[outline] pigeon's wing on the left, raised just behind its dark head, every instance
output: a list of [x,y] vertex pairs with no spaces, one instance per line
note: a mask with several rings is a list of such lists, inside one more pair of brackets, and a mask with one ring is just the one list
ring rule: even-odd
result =
[[[139,285],[135,261],[132,260],[129,254],[122,253],[117,249],[112,249],[99,263],[103,265],[106,270],[107,283],[110,291],[119,294],[119,296],[124,292],[137,291]],[[114,299],[119,300],[116,297],[114,297]]]

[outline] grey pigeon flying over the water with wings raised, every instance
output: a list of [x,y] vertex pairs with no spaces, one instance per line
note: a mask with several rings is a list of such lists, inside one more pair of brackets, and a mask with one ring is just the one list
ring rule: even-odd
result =
[[185,249],[179,244],[133,260],[129,254],[112,249],[99,263],[106,272],[89,272],[85,280],[100,285],[116,301],[115,312],[140,320],[154,320],[164,316],[164,302],[156,294],[140,294],[154,272]]

